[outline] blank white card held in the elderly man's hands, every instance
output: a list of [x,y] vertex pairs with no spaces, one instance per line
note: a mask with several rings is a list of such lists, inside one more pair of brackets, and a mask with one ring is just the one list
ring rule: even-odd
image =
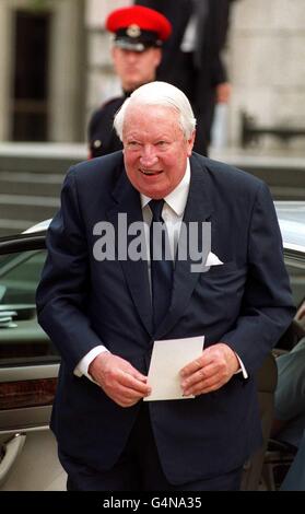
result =
[[183,396],[180,370],[201,355],[204,336],[154,341],[148,384],[152,388],[144,401],[189,399]]

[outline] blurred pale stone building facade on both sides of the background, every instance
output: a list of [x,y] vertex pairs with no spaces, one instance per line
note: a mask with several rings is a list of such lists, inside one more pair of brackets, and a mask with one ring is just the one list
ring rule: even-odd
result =
[[[130,3],[131,0],[1,0],[0,140],[13,139],[12,78],[21,62],[14,47],[16,11],[34,5],[50,13],[46,140],[81,142],[91,112],[120,91],[109,59],[109,35],[103,26],[110,10]],[[223,121],[228,145],[241,143],[242,112],[260,126],[305,128],[304,0],[234,2],[225,59],[233,86]],[[22,110],[22,102],[16,104],[16,110]],[[37,104],[35,108],[43,107]],[[281,142],[271,138],[269,144],[277,147]],[[302,150],[304,139],[290,144]]]

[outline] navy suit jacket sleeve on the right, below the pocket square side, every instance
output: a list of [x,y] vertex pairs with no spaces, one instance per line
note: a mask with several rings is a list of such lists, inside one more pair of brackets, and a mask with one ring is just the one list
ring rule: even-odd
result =
[[248,276],[241,315],[222,340],[251,373],[289,327],[294,313],[278,219],[269,189],[262,183],[248,230]]

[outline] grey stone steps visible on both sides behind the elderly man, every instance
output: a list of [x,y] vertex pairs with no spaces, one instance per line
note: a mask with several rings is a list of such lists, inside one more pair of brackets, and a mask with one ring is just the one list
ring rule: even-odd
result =
[[[211,149],[211,157],[262,178],[277,200],[305,199],[304,156]],[[85,159],[84,144],[0,143],[0,235],[52,218],[68,168]]]

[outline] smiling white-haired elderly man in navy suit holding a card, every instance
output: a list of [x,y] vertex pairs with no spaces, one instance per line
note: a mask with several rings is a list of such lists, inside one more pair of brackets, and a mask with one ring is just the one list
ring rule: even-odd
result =
[[[115,126],[124,152],[67,175],[37,291],[62,355],[51,428],[68,489],[236,490],[261,443],[254,376],[294,313],[272,199],[192,153],[196,120],[173,85],[136,90]],[[152,252],[155,223],[169,257]],[[180,242],[207,223],[198,268],[196,241],[186,254]],[[195,336],[185,398],[143,402],[154,341]]]

